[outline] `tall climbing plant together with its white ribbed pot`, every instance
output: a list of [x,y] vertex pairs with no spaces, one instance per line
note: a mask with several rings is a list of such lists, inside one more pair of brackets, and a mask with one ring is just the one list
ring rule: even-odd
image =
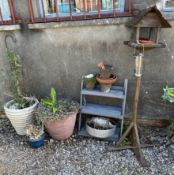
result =
[[13,51],[7,50],[10,67],[10,78],[13,100],[4,105],[5,114],[11,121],[17,134],[25,135],[26,126],[32,123],[32,114],[37,107],[38,100],[34,97],[24,97],[20,86],[22,78],[22,60]]

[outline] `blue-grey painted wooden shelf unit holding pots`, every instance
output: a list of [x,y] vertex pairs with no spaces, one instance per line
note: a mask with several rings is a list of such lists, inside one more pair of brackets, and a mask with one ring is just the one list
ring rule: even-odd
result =
[[[106,140],[118,141],[123,130],[127,87],[128,87],[128,79],[125,79],[124,86],[112,86],[110,92],[108,93],[101,92],[99,86],[97,86],[94,90],[87,90],[84,87],[84,82],[82,78],[81,93],[80,93],[80,114],[79,114],[78,135],[90,137],[90,135],[86,132],[85,122],[83,122],[85,121],[86,115],[83,115],[83,114],[87,114],[88,117],[89,116],[108,117],[108,118],[120,120],[120,122],[116,127],[117,129],[114,135],[110,138],[106,138]],[[107,104],[95,104],[91,102],[88,103],[86,99],[87,96],[93,96],[93,97],[95,96],[95,98],[104,97],[104,98],[121,100],[121,105],[111,106]]]

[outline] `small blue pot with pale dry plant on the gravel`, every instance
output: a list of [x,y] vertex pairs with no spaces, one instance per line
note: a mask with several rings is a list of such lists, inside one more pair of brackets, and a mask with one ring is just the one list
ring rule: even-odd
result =
[[44,129],[42,126],[37,125],[29,125],[26,128],[26,135],[29,137],[28,141],[32,148],[40,148],[41,146],[44,146]]

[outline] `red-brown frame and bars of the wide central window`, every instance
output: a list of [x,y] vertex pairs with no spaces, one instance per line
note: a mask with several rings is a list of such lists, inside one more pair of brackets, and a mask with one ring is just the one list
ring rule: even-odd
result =
[[[42,2],[40,6],[42,5],[42,9],[40,9],[39,3],[34,2],[35,6],[33,6],[33,0],[28,0],[28,8],[30,12],[30,21],[29,23],[37,23],[37,22],[55,22],[55,21],[73,21],[73,20],[83,20],[83,19],[99,19],[99,18],[108,18],[108,17],[124,17],[124,16],[131,16],[132,15],[132,0],[118,0],[119,1],[119,8],[113,8],[111,10],[105,10],[104,13],[101,9],[101,0],[97,0],[98,2],[98,8],[95,11],[95,13],[87,13],[83,11],[83,13],[78,14],[77,12],[73,13],[72,10],[69,10],[69,15],[67,16],[59,16],[59,9],[56,5],[56,12],[53,15],[47,16],[45,11],[43,10],[43,1],[44,0],[37,0],[37,2]],[[85,0],[81,0],[84,2]],[[69,5],[72,3],[72,0],[68,0]],[[127,11],[125,11],[125,6],[127,2]],[[56,0],[56,4],[58,3],[58,0]],[[113,2],[113,7],[115,3]],[[71,7],[71,5],[70,5]],[[84,7],[83,7],[84,8]],[[33,9],[37,9],[37,13]],[[39,11],[40,10],[40,11]],[[37,16],[35,16],[37,14]],[[75,15],[74,15],[75,14]]]

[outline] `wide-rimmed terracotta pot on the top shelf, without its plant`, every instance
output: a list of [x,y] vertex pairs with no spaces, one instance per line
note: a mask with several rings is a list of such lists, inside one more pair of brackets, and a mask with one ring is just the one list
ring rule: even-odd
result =
[[112,74],[110,78],[104,79],[104,78],[101,78],[100,75],[97,75],[96,79],[100,83],[101,91],[109,92],[112,84],[116,82],[117,76]]

